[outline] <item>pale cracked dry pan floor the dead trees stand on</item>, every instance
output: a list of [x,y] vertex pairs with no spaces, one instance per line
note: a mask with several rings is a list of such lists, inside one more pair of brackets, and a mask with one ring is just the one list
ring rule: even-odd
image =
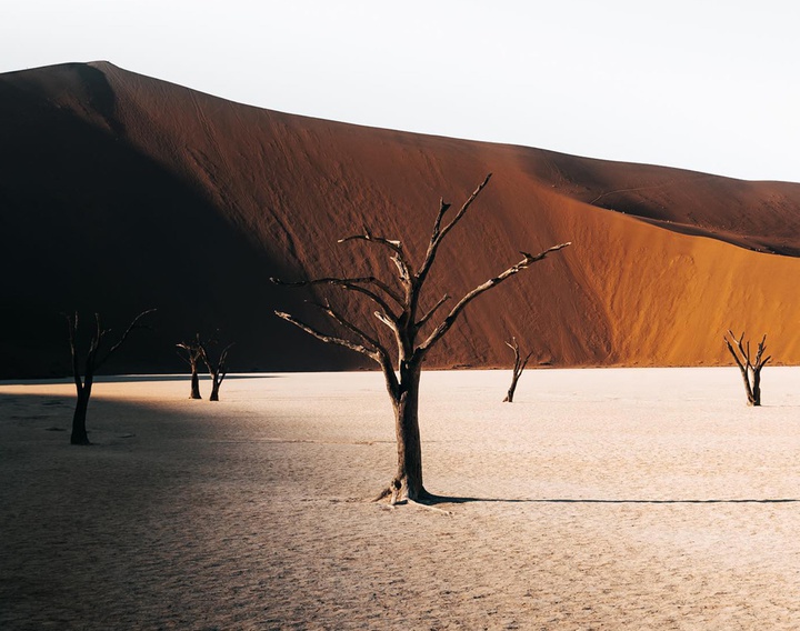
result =
[[[426,484],[377,373],[0,385],[2,629],[799,629],[800,369],[423,374]],[[202,385],[208,392],[208,382]]]

